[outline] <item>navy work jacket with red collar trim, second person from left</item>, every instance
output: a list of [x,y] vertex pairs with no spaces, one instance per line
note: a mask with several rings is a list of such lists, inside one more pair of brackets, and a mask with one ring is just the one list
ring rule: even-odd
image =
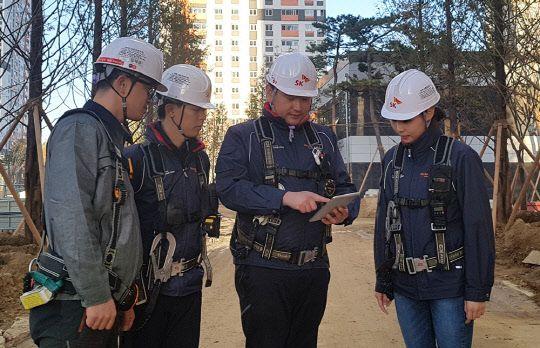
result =
[[[201,238],[203,231],[200,221],[180,223],[190,220],[201,212],[201,193],[197,176],[199,155],[202,168],[208,173],[210,162],[207,154],[202,151],[204,145],[193,139],[188,139],[177,148],[163,131],[161,123],[150,125],[146,130],[146,141],[158,145],[163,158],[165,175],[163,186],[167,202],[167,222],[163,222],[159,211],[156,188],[150,176],[149,164],[144,157],[142,145],[133,145],[126,149],[125,155],[133,163],[133,189],[135,203],[141,223],[141,233],[144,249],[144,261],[148,264],[148,255],[156,230],[166,226],[176,239],[176,249],[173,261],[191,260],[201,253]],[[186,296],[200,291],[204,271],[195,267],[182,276],[170,278],[161,287],[161,293],[167,296]]]

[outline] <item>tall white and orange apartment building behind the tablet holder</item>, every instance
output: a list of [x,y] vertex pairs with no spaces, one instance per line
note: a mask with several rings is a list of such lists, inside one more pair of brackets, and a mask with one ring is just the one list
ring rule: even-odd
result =
[[246,118],[249,95],[275,56],[307,52],[323,39],[327,0],[190,0],[195,27],[205,37],[213,101],[233,122]]

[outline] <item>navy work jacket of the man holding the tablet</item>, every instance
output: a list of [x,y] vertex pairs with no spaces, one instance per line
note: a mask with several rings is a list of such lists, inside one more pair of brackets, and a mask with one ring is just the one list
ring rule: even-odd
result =
[[[273,152],[278,168],[317,171],[318,166],[309,147],[304,123],[298,127],[289,127],[285,121],[274,116],[268,104],[263,110],[263,117],[270,121],[274,135]],[[329,158],[331,175],[336,181],[336,195],[356,191],[345,170],[343,159],[337,147],[335,134],[326,126],[313,124],[322,141],[322,151]],[[216,164],[216,187],[221,202],[238,212],[238,228],[252,233],[254,215],[279,213],[282,224],[277,233],[274,250],[302,251],[321,248],[325,230],[322,222],[309,222],[314,213],[302,214],[282,206],[283,196],[287,191],[311,191],[321,194],[321,185],[313,179],[280,177],[279,183],[284,190],[264,184],[264,156],[257,138],[253,120],[232,126],[227,131]],[[348,206],[349,217],[346,224],[358,215],[359,200]],[[264,231],[255,231],[255,240],[264,244]],[[241,247],[237,245],[237,247]],[[317,258],[303,266],[293,265],[280,260],[266,260],[261,254],[250,251],[247,257],[235,258],[235,264],[248,264],[276,269],[328,268],[327,256]]]

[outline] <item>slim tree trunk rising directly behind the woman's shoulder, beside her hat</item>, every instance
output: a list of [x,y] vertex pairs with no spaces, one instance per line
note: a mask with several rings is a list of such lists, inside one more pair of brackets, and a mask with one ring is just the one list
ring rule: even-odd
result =
[[450,133],[452,136],[457,134],[457,111],[456,111],[456,64],[455,64],[455,49],[454,40],[452,38],[452,0],[444,1],[444,12],[446,16],[446,49],[448,64],[448,118],[450,119]]

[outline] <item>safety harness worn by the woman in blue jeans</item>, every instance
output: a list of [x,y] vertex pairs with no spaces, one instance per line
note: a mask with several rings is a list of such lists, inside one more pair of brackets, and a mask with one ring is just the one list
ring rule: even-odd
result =
[[[403,169],[405,146],[399,144],[393,156],[393,198],[388,202],[386,214],[386,254],[391,255],[390,240],[395,242],[394,269],[408,274],[421,271],[431,272],[433,269],[450,270],[450,264],[463,258],[463,247],[447,252],[445,233],[447,224],[448,204],[453,197],[452,167],[450,156],[454,139],[441,135],[437,140],[433,164],[429,170],[429,199],[406,198],[399,196],[399,179]],[[406,257],[403,247],[403,229],[401,223],[401,208],[430,210],[430,226],[435,235],[437,255],[423,258]]]

